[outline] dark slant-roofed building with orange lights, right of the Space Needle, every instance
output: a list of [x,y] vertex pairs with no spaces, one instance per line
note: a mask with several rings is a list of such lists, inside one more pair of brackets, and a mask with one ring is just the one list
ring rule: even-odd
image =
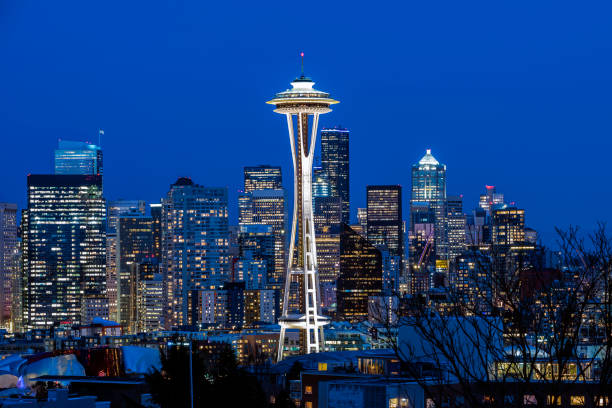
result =
[[368,317],[368,298],[383,290],[380,251],[351,227],[342,224],[338,318],[359,321]]

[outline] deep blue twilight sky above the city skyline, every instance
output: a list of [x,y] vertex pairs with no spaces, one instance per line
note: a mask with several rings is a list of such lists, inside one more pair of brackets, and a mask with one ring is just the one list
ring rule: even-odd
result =
[[611,221],[609,1],[0,2],[0,201],[52,169],[58,138],[106,135],[108,199],[159,200],[179,176],[227,186],[283,166],[284,119],[264,102],[299,73],[351,130],[352,212],[367,184],[404,186],[426,148],[448,193],[485,184],[554,226]]

